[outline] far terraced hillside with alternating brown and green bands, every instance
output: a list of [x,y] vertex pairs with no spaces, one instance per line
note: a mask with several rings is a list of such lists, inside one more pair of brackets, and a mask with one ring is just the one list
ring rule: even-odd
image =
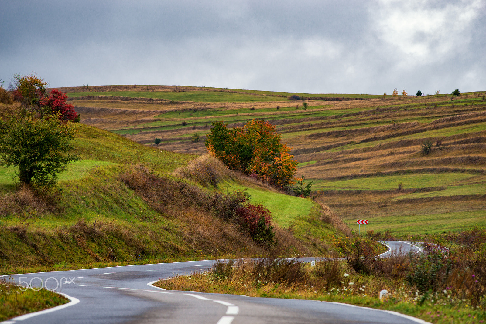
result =
[[[269,120],[293,147],[299,172],[319,190],[317,200],[353,228],[357,218],[370,220],[367,230],[409,234],[486,225],[484,92],[296,94],[306,99],[304,110],[304,101],[289,100],[289,93],[146,87],[121,87],[121,97],[98,97],[116,87],[64,91],[71,91],[83,123],[176,152],[203,153],[213,121],[233,127],[252,118]],[[205,97],[191,101],[196,92]],[[247,97],[216,101],[227,94]],[[193,134],[199,142],[191,141]],[[156,138],[159,145],[153,144]],[[433,146],[424,154],[421,145],[428,141]]]

